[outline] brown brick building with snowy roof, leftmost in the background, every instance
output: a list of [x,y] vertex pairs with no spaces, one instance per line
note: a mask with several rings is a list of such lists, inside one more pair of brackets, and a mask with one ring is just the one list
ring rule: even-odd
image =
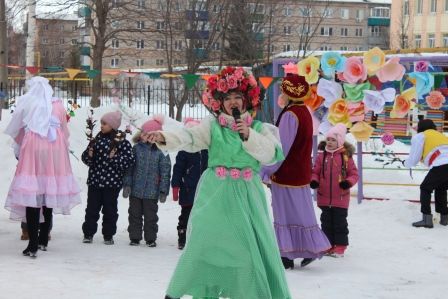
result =
[[40,67],[79,67],[79,29],[75,15],[42,15],[36,18],[35,47]]

